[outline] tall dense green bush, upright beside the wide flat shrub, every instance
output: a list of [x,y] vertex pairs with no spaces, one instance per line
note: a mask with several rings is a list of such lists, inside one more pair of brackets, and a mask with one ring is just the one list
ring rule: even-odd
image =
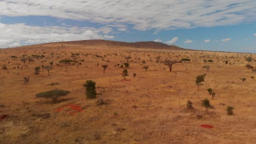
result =
[[92,81],[92,80],[87,80],[85,83],[84,83],[84,87],[86,88],[86,97],[88,99],[96,99],[96,82]]

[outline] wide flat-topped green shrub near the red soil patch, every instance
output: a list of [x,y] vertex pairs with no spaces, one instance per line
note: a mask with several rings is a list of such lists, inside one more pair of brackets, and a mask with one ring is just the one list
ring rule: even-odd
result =
[[45,98],[45,99],[51,98],[51,99],[53,99],[53,101],[56,101],[57,98],[64,97],[67,94],[69,94],[68,91],[63,91],[61,89],[54,89],[54,90],[51,90],[51,91],[38,93],[38,94],[36,94],[36,97],[37,98]]

